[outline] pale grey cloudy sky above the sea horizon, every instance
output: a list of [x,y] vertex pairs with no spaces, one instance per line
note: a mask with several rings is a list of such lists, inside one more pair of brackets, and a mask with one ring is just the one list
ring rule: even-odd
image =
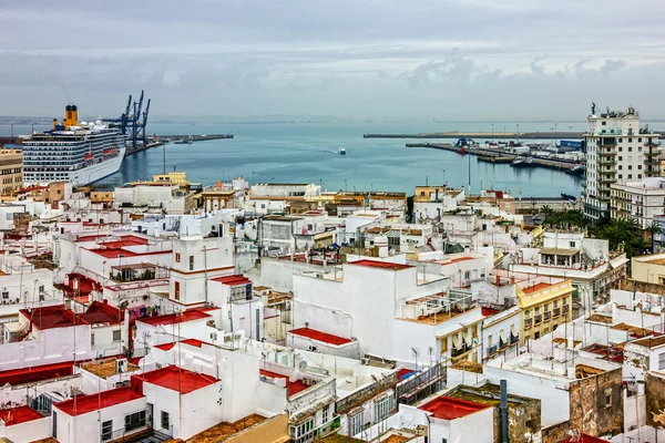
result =
[[659,0],[2,0],[0,115],[665,119]]

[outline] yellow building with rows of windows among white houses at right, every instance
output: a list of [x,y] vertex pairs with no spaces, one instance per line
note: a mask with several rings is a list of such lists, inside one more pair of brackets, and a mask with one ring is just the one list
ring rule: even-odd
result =
[[552,332],[571,321],[575,288],[570,279],[534,277],[515,287],[522,316],[521,344]]

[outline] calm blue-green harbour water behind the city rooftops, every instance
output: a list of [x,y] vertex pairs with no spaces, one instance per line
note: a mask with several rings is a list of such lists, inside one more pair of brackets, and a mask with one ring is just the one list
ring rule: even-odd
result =
[[[494,124],[514,131],[514,124]],[[582,131],[585,123],[559,125],[560,131]],[[549,131],[550,124],[520,124],[522,132]],[[37,128],[37,127],[35,127]],[[250,183],[317,183],[327,189],[401,190],[411,194],[416,185],[440,184],[467,186],[469,159],[471,190],[508,188],[514,195],[580,195],[581,181],[565,173],[543,168],[513,168],[510,165],[480,163],[475,157],[427,150],[408,148],[409,140],[362,138],[364,133],[417,133],[434,131],[487,131],[489,123],[422,124],[235,124],[187,125],[150,124],[156,134],[216,134],[232,132],[233,140],[197,142],[191,145],[168,144],[165,148],[166,171],[185,171],[187,178],[204,185],[221,179],[245,176]],[[10,128],[0,126],[0,134]],[[14,126],[14,134],[28,134],[30,127]],[[347,155],[337,155],[346,146]],[[121,169],[105,178],[109,186],[136,179],[150,179],[164,171],[164,148],[152,148],[132,155]]]

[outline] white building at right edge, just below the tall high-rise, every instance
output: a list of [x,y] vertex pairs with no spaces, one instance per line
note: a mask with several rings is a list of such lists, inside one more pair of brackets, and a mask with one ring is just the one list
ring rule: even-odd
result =
[[665,178],[647,177],[611,186],[612,218],[634,218],[642,228],[665,212]]

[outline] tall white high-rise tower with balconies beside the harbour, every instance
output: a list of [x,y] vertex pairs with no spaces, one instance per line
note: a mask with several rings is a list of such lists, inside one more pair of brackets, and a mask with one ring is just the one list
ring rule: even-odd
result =
[[658,136],[640,127],[640,114],[627,112],[596,113],[592,105],[586,141],[586,173],[582,184],[584,216],[598,220],[610,217],[613,183],[640,181],[661,175]]

